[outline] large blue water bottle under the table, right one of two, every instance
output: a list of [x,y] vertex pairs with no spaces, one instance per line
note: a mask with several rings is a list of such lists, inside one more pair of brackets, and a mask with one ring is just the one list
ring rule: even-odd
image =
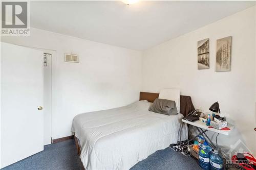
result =
[[223,159],[219,155],[219,152],[215,149],[211,149],[210,169],[211,170],[221,170],[221,169],[223,169]]

